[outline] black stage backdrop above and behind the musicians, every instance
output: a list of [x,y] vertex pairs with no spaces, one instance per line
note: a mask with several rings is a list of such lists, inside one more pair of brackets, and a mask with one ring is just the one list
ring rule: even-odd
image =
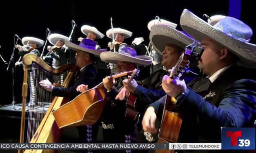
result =
[[[89,0],[34,0],[34,1],[5,1],[0,2],[0,54],[9,62],[13,51],[14,35],[22,37],[31,36],[39,39],[46,39],[46,29],[52,33],[60,33],[69,37],[72,29],[71,20],[78,25],[74,29],[72,42],[77,43],[78,37],[85,37],[80,28],[87,24],[95,26],[101,33],[105,34],[111,28],[110,17],[113,18],[113,26],[127,29],[133,32],[131,38],[125,39],[127,44],[131,44],[135,37],[144,37],[145,44],[149,43],[149,30],[147,24],[156,15],[179,24],[179,18],[183,9],[189,9],[199,17],[204,13],[207,15],[230,15],[236,16],[247,23],[252,30],[255,30],[254,6],[252,2],[240,0],[230,0],[233,7],[229,7],[229,0],[153,0],[149,1],[89,1]],[[7,4],[12,3],[12,4]],[[234,7],[235,6],[235,7]],[[238,9],[237,9],[238,8]],[[6,10],[6,11],[5,11]],[[177,27],[181,30],[180,26]],[[251,43],[256,43],[256,38],[252,37]],[[106,48],[111,40],[106,36],[97,39],[101,48]],[[18,44],[22,45],[21,41]],[[49,44],[47,44],[48,46]],[[42,48],[39,48],[42,52]],[[45,50],[47,52],[47,50]],[[15,62],[18,61],[18,50],[14,54]],[[1,101],[0,105],[11,104],[12,102],[12,77],[11,69],[6,71],[7,64],[0,61],[1,75]],[[15,101],[22,102],[22,67],[16,68],[14,83]]]

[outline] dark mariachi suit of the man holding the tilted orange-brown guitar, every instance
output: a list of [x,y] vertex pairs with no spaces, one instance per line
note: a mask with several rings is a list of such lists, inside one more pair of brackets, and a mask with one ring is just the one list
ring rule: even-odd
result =
[[[122,80],[118,79],[113,89],[108,92],[111,101],[105,105],[105,109],[102,112],[103,139],[105,143],[127,143],[126,140],[133,143],[136,142],[137,122],[125,117],[126,100],[115,100],[118,90],[122,87]],[[107,125],[107,128],[104,128],[104,125]],[[130,138],[126,138],[125,135],[130,136]],[[125,150],[112,150],[109,152],[126,153]]]

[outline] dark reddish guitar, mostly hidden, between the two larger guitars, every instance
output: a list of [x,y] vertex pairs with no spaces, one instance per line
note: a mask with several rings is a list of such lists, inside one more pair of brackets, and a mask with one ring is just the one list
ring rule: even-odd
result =
[[[133,74],[131,74],[131,77],[128,79],[128,82],[131,83],[132,79],[134,79],[135,75],[138,75],[140,70],[137,70]],[[138,84],[141,85],[141,84]],[[139,112],[136,111],[135,103],[136,103],[136,97],[133,93],[129,93],[127,101],[126,101],[126,111],[125,111],[125,117],[130,118],[132,120],[136,120]]]

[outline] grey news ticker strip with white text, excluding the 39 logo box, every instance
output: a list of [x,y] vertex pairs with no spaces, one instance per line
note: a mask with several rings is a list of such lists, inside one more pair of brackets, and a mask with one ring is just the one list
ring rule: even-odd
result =
[[209,150],[221,143],[0,143],[3,150]]

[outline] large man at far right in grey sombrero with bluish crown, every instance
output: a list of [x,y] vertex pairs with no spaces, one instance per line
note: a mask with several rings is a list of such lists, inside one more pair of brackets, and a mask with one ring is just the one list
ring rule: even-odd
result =
[[[163,89],[176,98],[176,107],[185,111],[183,124],[187,126],[182,127],[179,142],[220,143],[221,127],[252,127],[256,116],[255,70],[249,69],[256,68],[256,47],[249,43],[252,29],[233,17],[211,26],[187,9],[180,24],[205,49],[198,67],[206,77],[187,86],[179,79],[163,78]],[[151,104],[145,112],[145,131],[156,131],[152,117],[163,102]]]

